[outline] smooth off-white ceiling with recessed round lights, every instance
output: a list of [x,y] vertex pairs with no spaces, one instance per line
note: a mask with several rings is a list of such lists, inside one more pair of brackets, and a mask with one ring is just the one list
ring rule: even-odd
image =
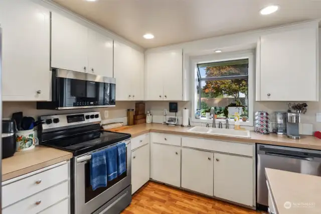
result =
[[[321,0],[53,1],[144,48],[321,18]],[[280,10],[259,14],[271,4]]]

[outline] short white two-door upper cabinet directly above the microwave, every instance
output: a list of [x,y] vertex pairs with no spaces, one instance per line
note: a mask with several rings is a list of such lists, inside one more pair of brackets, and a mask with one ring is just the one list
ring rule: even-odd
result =
[[113,40],[52,13],[51,66],[113,77]]

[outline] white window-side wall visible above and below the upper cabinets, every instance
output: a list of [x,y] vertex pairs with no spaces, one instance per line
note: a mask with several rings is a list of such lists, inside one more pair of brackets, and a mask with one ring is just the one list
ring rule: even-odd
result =
[[[280,26],[277,28],[269,28],[256,30],[251,32],[238,33],[233,35],[226,35],[221,37],[214,37],[209,39],[203,39],[193,42],[186,42],[177,45],[171,45],[160,48],[148,49],[146,52],[154,52],[159,50],[171,50],[176,48],[183,48],[184,51],[184,69],[190,67],[190,57],[199,55],[213,54],[213,50],[222,49],[224,52],[238,51],[253,49],[256,47],[257,40],[262,34],[269,34],[274,31],[284,31],[289,29],[301,28],[315,24],[313,22],[297,23],[287,26]],[[319,41],[321,41],[321,28],[319,29]],[[304,53],[302,53],[304,54]],[[321,62],[321,42],[319,42],[319,62]],[[319,72],[321,72],[321,63],[319,63]],[[277,78],[277,77],[276,77]],[[321,75],[319,75],[321,78]],[[321,82],[321,79],[319,79]],[[320,84],[319,84],[320,85]],[[254,91],[255,92],[255,91]],[[255,93],[254,93],[255,94]],[[301,116],[301,123],[312,124],[313,131],[321,131],[321,123],[315,121],[315,114],[321,113],[321,93],[319,93],[318,102],[307,102],[307,113]],[[181,114],[183,108],[191,110],[191,101],[178,102],[179,113]],[[163,116],[163,110],[169,108],[169,102],[154,102],[146,101],[146,110],[151,110],[153,115]],[[267,111],[270,114],[277,111],[286,111],[288,109],[288,102],[268,102],[268,101],[254,101],[254,113],[257,111]],[[179,116],[181,116],[178,114]],[[191,114],[192,116],[192,114]]]

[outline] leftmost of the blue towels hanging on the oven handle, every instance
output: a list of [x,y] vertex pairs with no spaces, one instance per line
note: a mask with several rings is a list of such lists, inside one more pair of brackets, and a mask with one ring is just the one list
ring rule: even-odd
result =
[[90,160],[90,184],[92,190],[107,186],[107,165],[105,151],[94,152]]

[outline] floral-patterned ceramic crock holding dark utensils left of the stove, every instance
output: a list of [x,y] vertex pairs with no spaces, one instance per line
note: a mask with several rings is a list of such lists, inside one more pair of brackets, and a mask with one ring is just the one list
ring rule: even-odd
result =
[[34,130],[16,132],[17,152],[34,149],[38,141]]

